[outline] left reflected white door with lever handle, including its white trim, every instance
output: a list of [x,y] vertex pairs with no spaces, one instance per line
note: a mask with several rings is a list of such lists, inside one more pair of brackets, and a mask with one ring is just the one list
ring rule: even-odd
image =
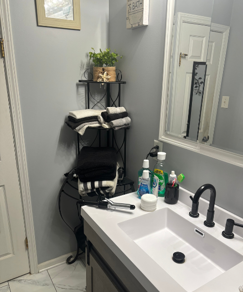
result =
[[[176,18],[167,133],[183,137],[187,130],[193,62],[206,62],[211,18],[180,12]],[[188,56],[181,58],[179,66],[180,53]]]

